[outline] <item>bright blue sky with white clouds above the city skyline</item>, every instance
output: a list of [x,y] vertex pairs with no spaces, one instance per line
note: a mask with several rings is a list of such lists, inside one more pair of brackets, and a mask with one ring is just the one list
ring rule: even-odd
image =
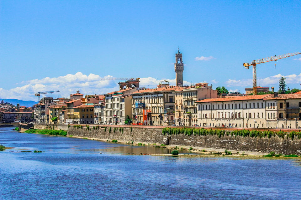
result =
[[[177,48],[186,85],[245,93],[243,63],[301,52],[300,1],[5,1],[0,0],[0,98],[37,100],[140,86],[175,85]],[[257,65],[257,86],[300,89],[301,56]],[[121,80],[122,81],[122,80]]]

